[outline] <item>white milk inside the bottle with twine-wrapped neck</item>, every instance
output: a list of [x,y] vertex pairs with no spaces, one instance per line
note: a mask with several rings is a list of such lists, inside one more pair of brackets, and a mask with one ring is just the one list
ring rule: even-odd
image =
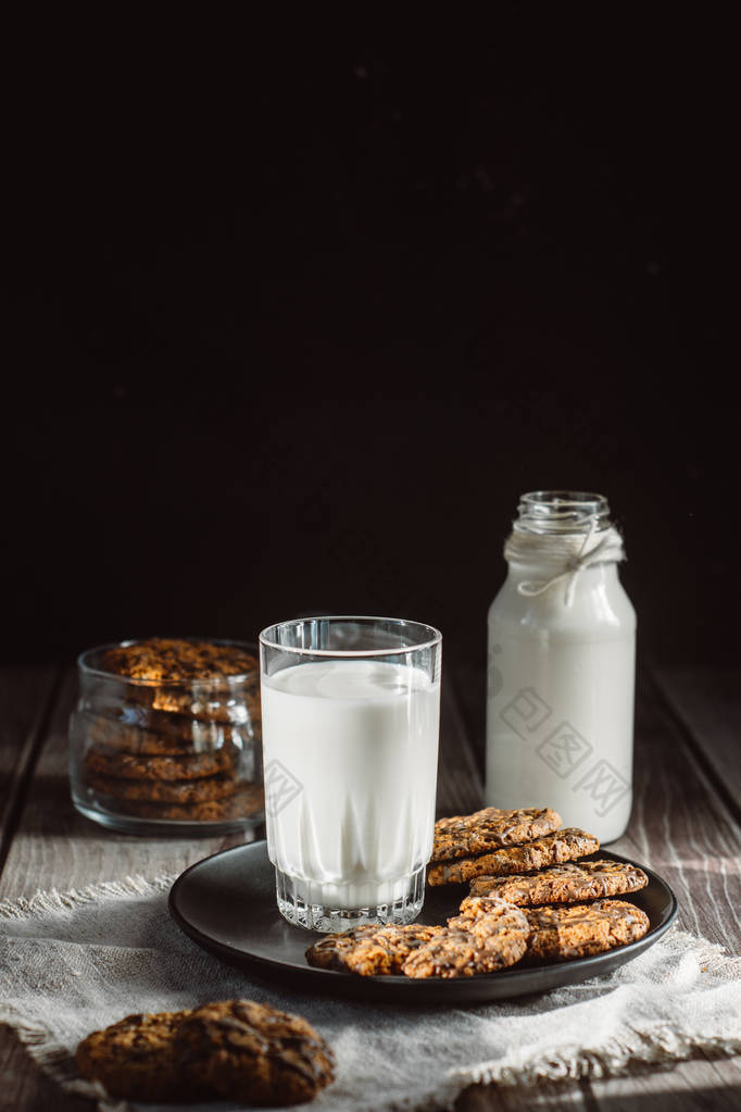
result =
[[565,582],[518,593],[552,573],[510,562],[489,612],[487,802],[611,842],[632,803],[635,613],[614,563],[580,572],[568,605]]

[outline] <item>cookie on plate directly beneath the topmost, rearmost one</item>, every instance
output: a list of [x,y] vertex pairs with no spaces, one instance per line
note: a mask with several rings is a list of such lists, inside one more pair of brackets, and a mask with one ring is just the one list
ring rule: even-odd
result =
[[598,838],[573,826],[547,834],[524,845],[509,845],[478,857],[440,861],[429,866],[428,884],[463,884],[474,876],[498,876],[507,873],[529,873],[545,865],[558,865],[595,853]]

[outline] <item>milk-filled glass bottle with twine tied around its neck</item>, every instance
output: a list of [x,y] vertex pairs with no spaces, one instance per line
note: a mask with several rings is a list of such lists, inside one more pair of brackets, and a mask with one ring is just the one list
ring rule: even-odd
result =
[[635,612],[602,495],[522,495],[489,610],[487,803],[611,842],[632,803]]

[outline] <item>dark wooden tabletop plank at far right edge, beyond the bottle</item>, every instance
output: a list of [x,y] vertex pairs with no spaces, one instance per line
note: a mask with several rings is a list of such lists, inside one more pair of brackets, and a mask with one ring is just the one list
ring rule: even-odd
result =
[[662,667],[654,677],[741,821],[741,665]]

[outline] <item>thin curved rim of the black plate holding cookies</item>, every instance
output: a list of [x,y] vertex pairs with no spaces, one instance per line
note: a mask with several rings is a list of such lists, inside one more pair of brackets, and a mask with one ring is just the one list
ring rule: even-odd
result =
[[[585,981],[589,980],[589,977],[592,975],[594,976],[599,975],[605,963],[610,959],[614,959],[618,955],[620,955],[619,964],[623,964],[624,962],[631,961],[632,957],[637,957],[639,953],[641,953],[643,950],[648,950],[667,933],[667,931],[673,925],[674,921],[677,920],[677,915],[679,914],[679,901],[677,898],[677,894],[674,893],[671,885],[654,870],[650,868],[648,865],[642,865],[630,857],[625,857],[622,854],[613,853],[611,850],[600,847],[599,850],[595,851],[597,854],[604,855],[612,861],[621,862],[623,864],[638,865],[638,867],[642,868],[645,875],[649,877],[649,882],[652,881],[657,882],[669,894],[669,914],[667,915],[665,921],[663,923],[660,923],[655,927],[650,927],[649,931],[647,931],[647,933],[641,939],[637,939],[634,942],[629,942],[623,946],[615,946],[612,950],[607,950],[600,954],[591,954],[585,957],[572,957],[563,962],[548,962],[548,963],[543,962],[539,964],[527,965],[524,967],[522,966],[518,967],[519,965],[518,963],[511,969],[499,970],[494,973],[479,973],[474,977],[449,979],[449,977],[438,976],[438,977],[424,977],[418,980],[418,979],[405,977],[403,975],[398,975],[398,974],[390,974],[390,975],[387,974],[383,977],[360,977],[354,973],[343,973],[339,970],[319,969],[317,966],[308,964],[303,966],[298,964],[297,962],[287,962],[271,957],[263,957],[262,955],[256,954],[251,951],[238,950],[236,946],[231,946],[224,942],[219,942],[210,937],[209,935],[203,934],[203,932],[200,931],[197,926],[193,926],[177,907],[176,904],[177,892],[180,888],[181,884],[186,883],[186,878],[189,876],[189,874],[192,873],[194,870],[201,868],[203,865],[206,865],[209,862],[212,862],[214,858],[223,857],[227,854],[238,854],[240,852],[254,853],[259,852],[262,848],[267,851],[267,845],[268,843],[266,838],[260,838],[254,842],[243,842],[241,845],[234,845],[234,846],[229,846],[226,850],[219,850],[217,851],[217,853],[209,854],[208,857],[202,857],[200,861],[196,861],[193,862],[192,865],[189,865],[188,868],[183,870],[183,872],[180,873],[180,875],[173,881],[170,891],[168,892],[168,911],[170,913],[171,919],[188,937],[192,939],[193,942],[196,942],[197,945],[201,946],[201,949],[210,953],[216,954],[221,960],[226,961],[228,964],[231,964],[232,966],[239,965],[241,967],[244,966],[250,966],[250,969],[254,967],[254,972],[257,975],[260,975],[261,970],[266,970],[267,971],[266,975],[268,976],[270,976],[271,972],[273,972],[274,975],[282,977],[286,977],[287,973],[289,972],[298,972],[304,980],[320,982],[322,985],[326,986],[324,991],[330,990],[332,980],[334,981],[334,984],[338,986],[338,989],[340,989],[340,985],[343,986],[352,985],[356,989],[361,989],[363,985],[366,985],[366,987],[370,987],[370,984],[372,984],[373,990],[372,992],[369,993],[369,999],[375,997],[375,990],[380,987],[384,990],[385,989],[390,990],[389,995],[393,994],[398,990],[399,992],[398,1002],[403,1003],[404,990],[409,991],[412,989],[412,986],[419,993],[429,992],[430,995],[433,995],[435,994],[433,993],[433,990],[437,990],[439,994],[440,987],[442,985],[450,984],[451,981],[452,984],[458,984],[460,986],[465,985],[473,987],[473,985],[477,985],[479,986],[480,990],[484,990],[485,985],[491,983],[495,983],[498,985],[507,985],[508,983],[522,984],[523,979],[531,980],[529,974],[532,974],[534,976],[541,976],[543,974],[547,974],[548,971],[553,971],[554,974],[558,974],[559,972],[565,973],[567,971],[571,970],[578,970],[580,972],[584,971],[583,976],[573,979],[573,981],[564,982],[560,980],[558,981],[558,983],[554,983],[552,985],[544,985],[541,987],[535,986],[531,990],[533,993],[550,992],[553,989],[560,987],[564,983],[573,983],[577,980]],[[594,857],[594,854],[589,854],[585,860],[590,860],[592,857]],[[450,886],[462,887],[462,885],[450,885]],[[611,896],[609,898],[615,898],[615,900],[628,898],[630,895],[638,895],[638,893],[622,893],[620,895]],[[278,907],[276,907],[276,914],[278,915],[280,914]],[[297,930],[301,929],[297,927]],[[304,934],[307,939],[322,936],[317,931],[306,931]],[[310,943],[308,942],[307,949]],[[592,974],[589,971],[593,966],[597,966],[597,971],[595,973]],[[604,972],[609,972],[609,969],[604,970]],[[299,989],[299,985],[297,984],[293,987]],[[414,993],[414,995],[417,995],[417,992]],[[454,993],[453,996],[454,999],[451,999],[450,1001],[451,1004],[454,1003],[457,1005],[460,1005],[461,1003],[463,1003],[461,996],[458,993]],[[477,996],[478,1001],[475,1002],[478,1003],[481,1003],[487,999],[485,992],[477,992]],[[502,1000],[508,999],[505,993],[498,993],[497,996],[498,999]],[[512,997],[510,999],[513,999],[513,996],[514,994],[512,994]],[[378,1000],[378,997],[375,999]],[[491,999],[494,997],[492,996]],[[472,1001],[472,1003],[474,1001]],[[409,1001],[409,1003],[412,1003],[412,1001]],[[414,1003],[419,1003],[419,1001],[415,1000]],[[432,1003],[432,1001],[430,1001],[430,1003]]]

